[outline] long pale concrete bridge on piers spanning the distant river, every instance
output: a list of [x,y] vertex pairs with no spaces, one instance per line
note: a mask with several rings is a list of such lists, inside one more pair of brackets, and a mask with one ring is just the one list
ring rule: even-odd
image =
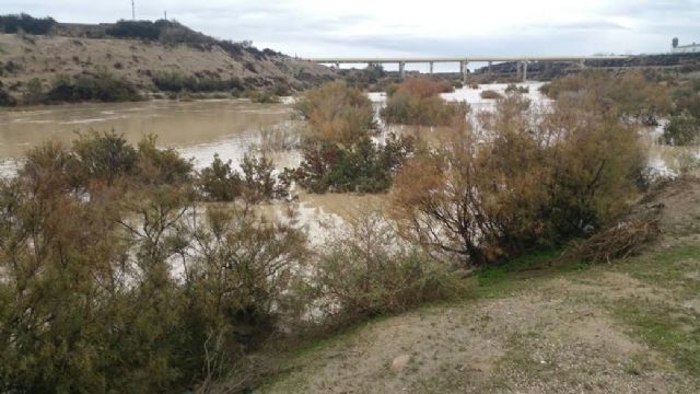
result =
[[325,65],[336,65],[340,68],[340,65],[348,63],[368,63],[368,65],[398,65],[398,73],[400,78],[406,76],[407,63],[427,63],[429,65],[430,73],[433,73],[433,67],[435,63],[459,63],[459,73],[464,82],[467,82],[468,69],[467,66],[470,61],[488,62],[489,70],[491,65],[495,62],[517,62],[517,76],[522,76],[523,81],[527,80],[527,63],[530,61],[557,61],[557,62],[574,62],[582,68],[585,67],[586,60],[619,60],[626,59],[629,56],[623,55],[610,55],[610,56],[470,56],[470,57],[395,57],[395,58],[372,58],[372,57],[357,57],[357,58],[342,58],[342,57],[325,57],[325,58],[312,58],[311,61]]

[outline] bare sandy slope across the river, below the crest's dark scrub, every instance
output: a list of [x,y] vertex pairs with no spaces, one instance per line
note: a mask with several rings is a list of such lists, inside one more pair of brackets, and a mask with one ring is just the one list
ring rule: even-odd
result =
[[59,73],[71,76],[100,68],[126,77],[143,89],[152,85],[150,74],[160,70],[186,76],[199,72],[222,79],[237,77],[246,84],[260,86],[276,81],[304,85],[334,76],[324,66],[279,55],[256,58],[244,51],[234,57],[219,47],[202,50],[187,45],[164,46],[131,39],[15,34],[0,34],[0,61],[4,66],[9,62],[18,66],[16,70],[5,67],[0,73],[5,86],[34,77],[48,83]]

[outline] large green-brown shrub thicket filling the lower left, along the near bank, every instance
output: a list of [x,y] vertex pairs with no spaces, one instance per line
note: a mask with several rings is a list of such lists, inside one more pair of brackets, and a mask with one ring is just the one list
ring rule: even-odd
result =
[[215,160],[202,173],[235,179],[253,198],[199,212],[191,162],[156,149],[154,137],[135,147],[91,132],[72,147],[30,151],[18,175],[0,181],[0,391],[207,391],[279,327],[327,305],[334,289],[361,286],[362,264],[382,264],[371,276],[377,285],[303,324],[453,294],[446,270],[394,241],[341,267],[354,273],[352,285],[336,282],[347,278],[331,260],[340,251],[359,256],[361,232],[331,246],[323,270],[302,274],[315,258],[304,232],[253,207],[275,193],[271,163],[241,166],[234,175]]

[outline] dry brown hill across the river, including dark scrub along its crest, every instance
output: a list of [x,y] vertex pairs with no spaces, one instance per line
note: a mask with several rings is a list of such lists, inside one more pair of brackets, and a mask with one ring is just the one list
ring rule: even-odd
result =
[[[45,86],[63,74],[107,71],[143,91],[162,72],[211,80],[237,79],[246,89],[304,89],[330,80],[331,69],[247,44],[221,42],[175,25],[156,39],[114,37],[109,24],[58,24],[50,34],[0,34],[0,82],[21,95],[33,78]],[[172,33],[175,31],[175,33]]]

